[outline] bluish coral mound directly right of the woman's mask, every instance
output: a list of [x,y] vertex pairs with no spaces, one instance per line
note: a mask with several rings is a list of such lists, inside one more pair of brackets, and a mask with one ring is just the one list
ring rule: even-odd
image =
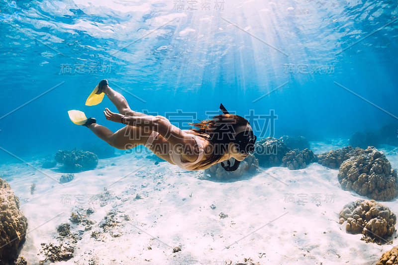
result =
[[279,167],[289,148],[281,140],[267,137],[256,142],[254,155],[264,168]]

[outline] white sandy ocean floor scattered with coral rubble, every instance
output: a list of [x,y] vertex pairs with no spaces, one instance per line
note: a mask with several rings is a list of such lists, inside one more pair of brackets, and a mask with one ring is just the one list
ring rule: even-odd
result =
[[[312,142],[311,149],[321,153],[347,142]],[[380,150],[397,169],[398,150]],[[338,170],[274,167],[217,182],[203,171],[155,165],[146,155],[102,159],[96,170],[64,184],[56,169],[1,165],[28,219],[20,255],[39,264],[42,243],[70,243],[74,257],[58,264],[373,265],[397,245],[397,233],[392,245],[382,246],[346,233],[339,212],[365,197],[342,190]],[[38,161],[30,163],[40,169]],[[382,203],[398,214],[397,199]],[[71,212],[83,222],[73,222]],[[60,237],[62,223],[70,224],[73,236]]]

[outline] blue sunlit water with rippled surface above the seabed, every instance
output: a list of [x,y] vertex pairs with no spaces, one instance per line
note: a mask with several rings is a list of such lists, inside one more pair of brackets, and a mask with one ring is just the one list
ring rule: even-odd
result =
[[[116,111],[106,97],[84,105],[103,78],[133,110],[188,113],[171,119],[184,129],[221,102],[252,114],[263,137],[349,138],[397,122],[396,1],[188,2],[2,0],[1,161],[100,143],[70,109],[121,128],[103,116]],[[274,131],[256,118],[270,113]]]

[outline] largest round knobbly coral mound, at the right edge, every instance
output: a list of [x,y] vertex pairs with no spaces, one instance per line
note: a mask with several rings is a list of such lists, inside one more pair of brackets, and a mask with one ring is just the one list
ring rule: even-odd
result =
[[392,200],[397,196],[397,172],[391,168],[386,156],[374,147],[344,161],[338,180],[345,190],[375,200]]

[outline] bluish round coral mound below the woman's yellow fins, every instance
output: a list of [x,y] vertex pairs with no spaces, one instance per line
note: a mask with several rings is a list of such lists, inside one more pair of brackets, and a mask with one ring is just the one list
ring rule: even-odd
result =
[[96,154],[82,150],[58,151],[55,154],[55,160],[63,164],[69,173],[93,170],[98,164]]

